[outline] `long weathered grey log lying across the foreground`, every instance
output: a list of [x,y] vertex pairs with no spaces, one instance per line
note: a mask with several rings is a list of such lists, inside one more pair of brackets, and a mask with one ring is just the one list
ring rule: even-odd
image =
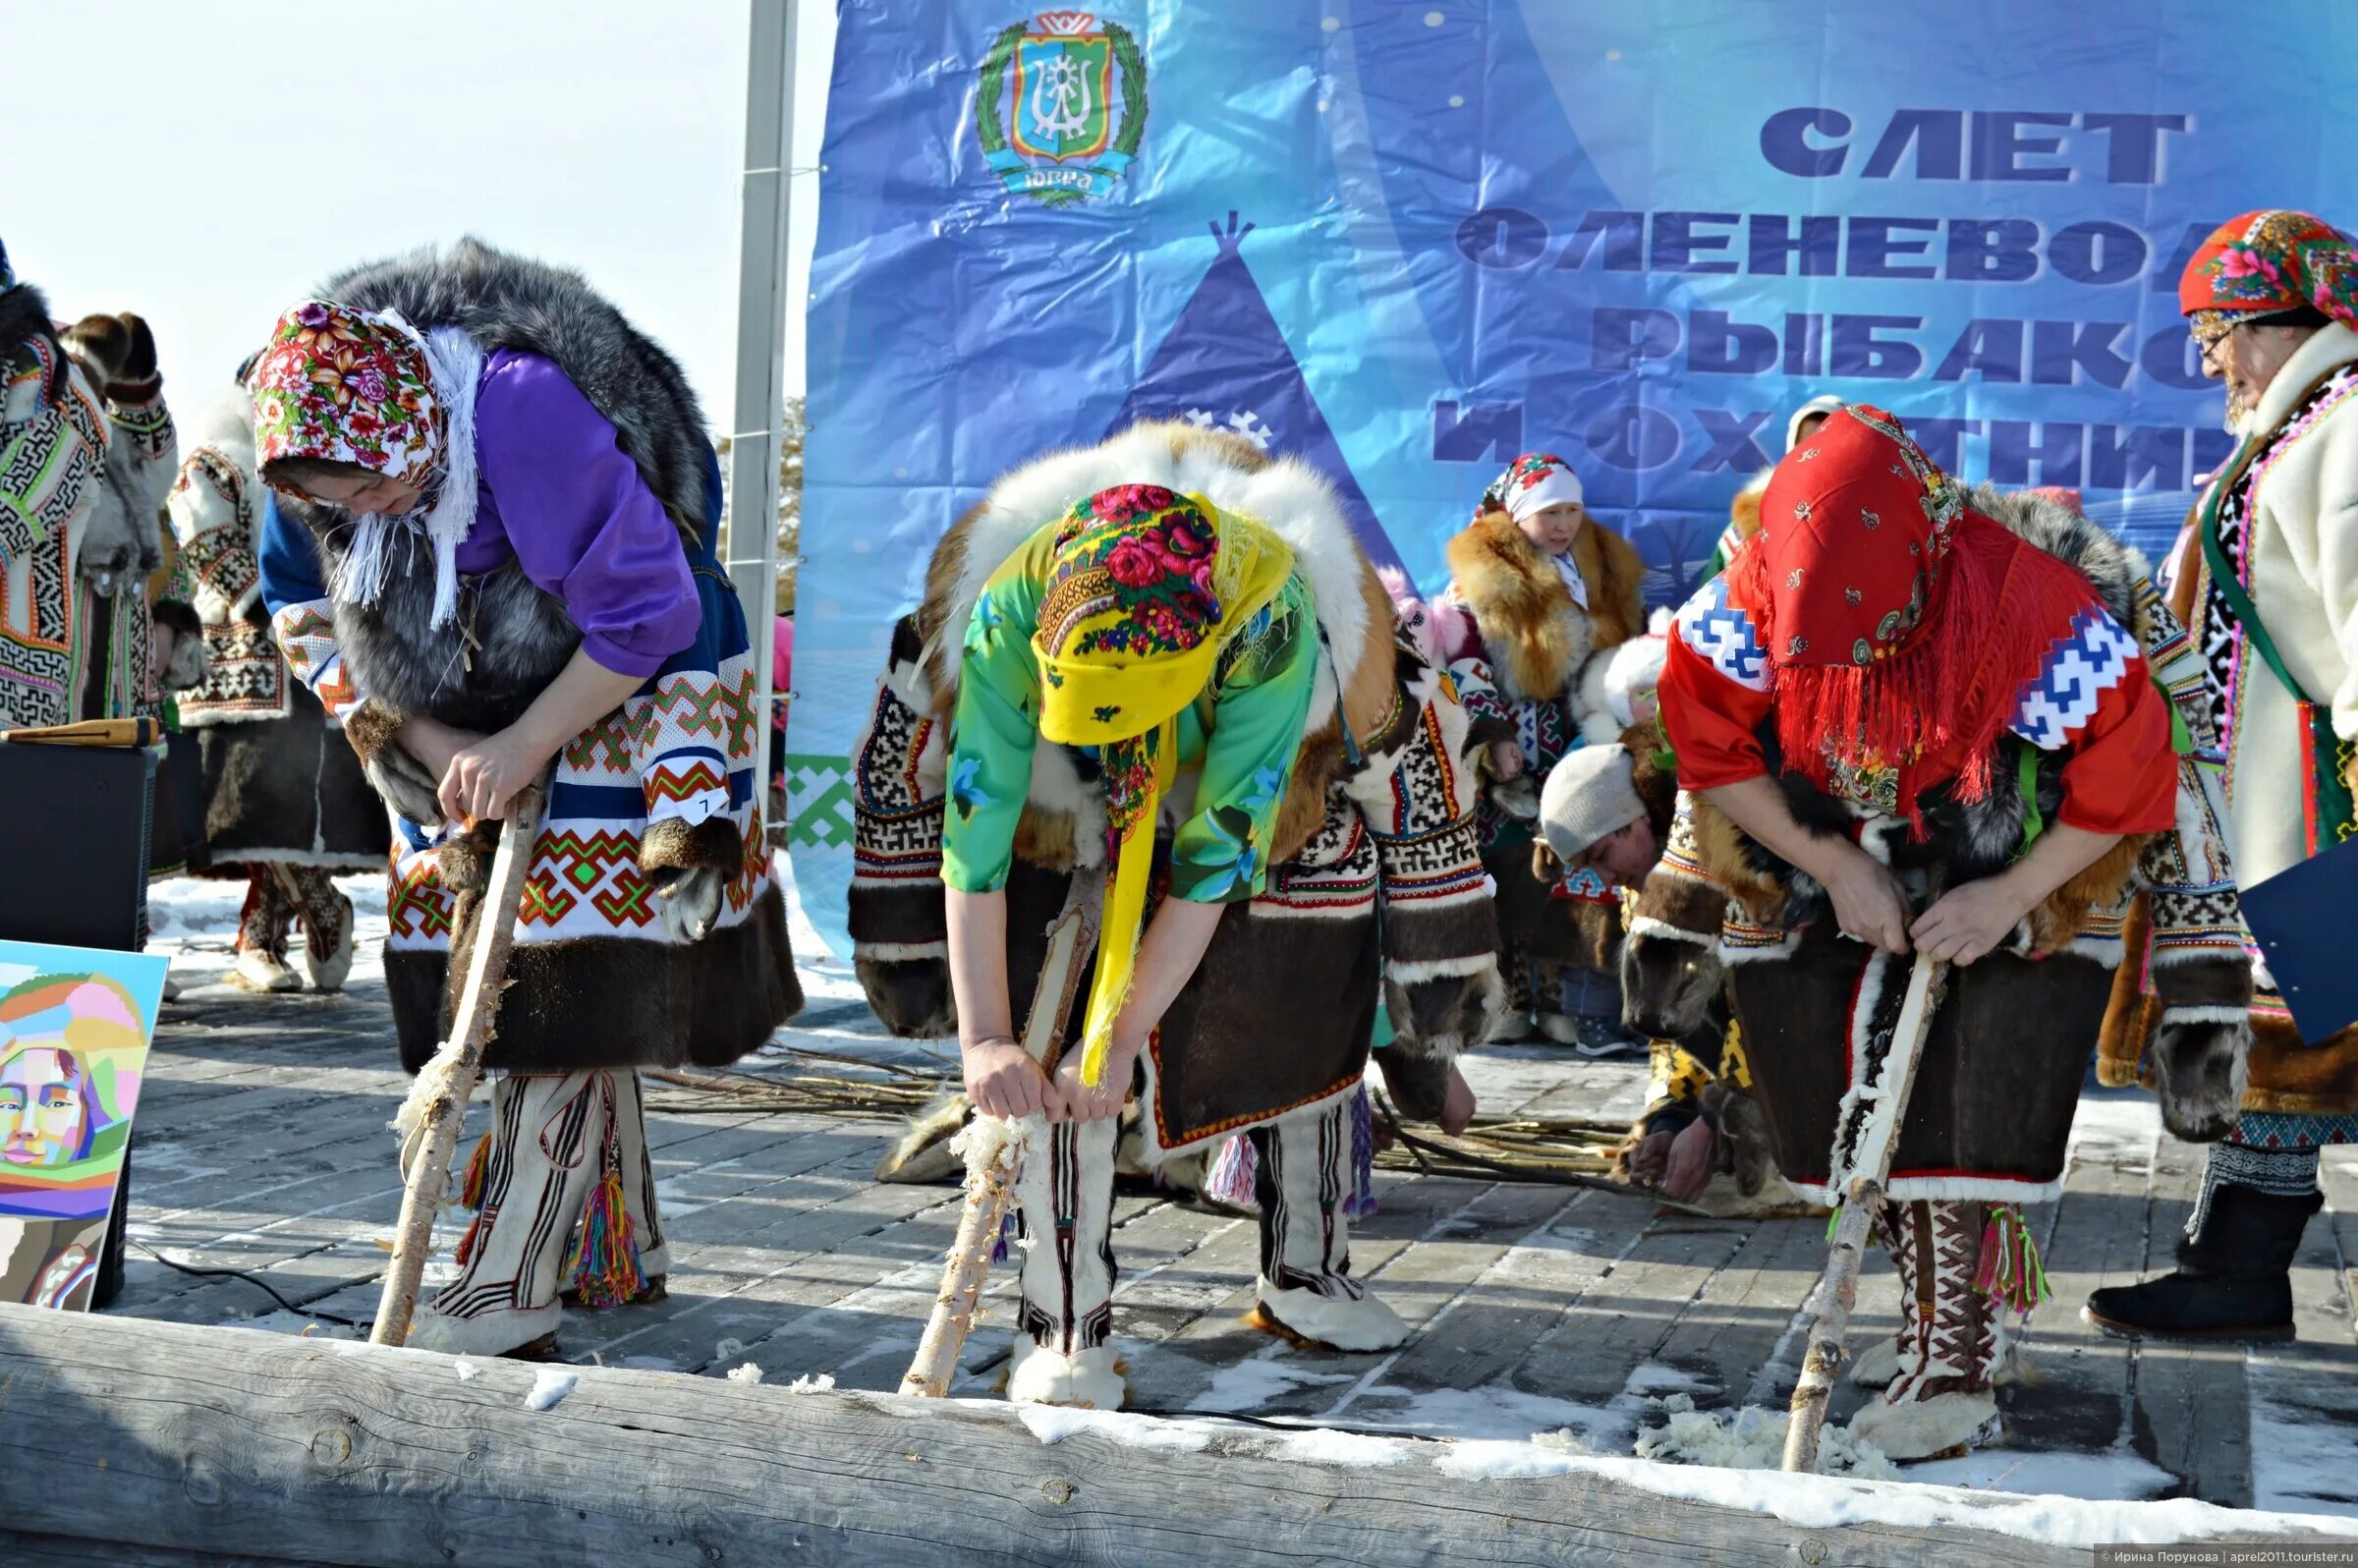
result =
[[[1203,1448],[1040,1412],[533,1368],[0,1306],[0,1516],[134,1563],[2082,1563],[1993,1530],[1827,1530],[1618,1476],[1474,1478],[1443,1443],[1379,1464],[1224,1429]],[[578,1384],[526,1408],[535,1379]],[[1066,1412],[1049,1412],[1061,1419]],[[1158,1436],[1181,1436],[1162,1429]],[[1794,1478],[1764,1474],[1761,1493]],[[1820,1483],[1825,1485],[1825,1483]],[[1976,1500],[1959,1502],[1971,1514]],[[2287,1537],[2254,1516],[2254,1535]],[[5,1544],[5,1542],[0,1542]],[[40,1559],[33,1559],[40,1561]]]

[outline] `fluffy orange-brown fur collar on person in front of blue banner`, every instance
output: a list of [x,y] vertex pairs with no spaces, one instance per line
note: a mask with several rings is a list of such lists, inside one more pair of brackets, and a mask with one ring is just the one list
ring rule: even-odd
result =
[[[1450,540],[1448,561],[1450,592],[1474,615],[1490,674],[1511,703],[1568,698],[1585,707],[1589,660],[1646,630],[1646,564],[1596,519],[1573,535],[1573,564],[1589,592],[1585,611],[1554,561],[1500,507]],[[1587,712],[1573,717],[1587,726]]]

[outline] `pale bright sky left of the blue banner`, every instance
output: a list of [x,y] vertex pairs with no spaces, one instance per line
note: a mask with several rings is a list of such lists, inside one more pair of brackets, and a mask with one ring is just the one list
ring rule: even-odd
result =
[[[816,165],[835,7],[799,9],[795,163]],[[719,429],[745,28],[745,0],[14,5],[0,241],[59,316],[144,314],[193,413],[325,274],[476,233],[585,271],[679,354]],[[816,186],[795,182],[795,299]]]

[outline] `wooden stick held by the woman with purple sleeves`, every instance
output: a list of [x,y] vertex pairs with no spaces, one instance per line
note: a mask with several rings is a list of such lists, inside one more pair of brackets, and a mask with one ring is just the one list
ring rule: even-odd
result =
[[[516,943],[516,908],[523,903],[523,879],[533,868],[533,844],[540,839],[545,792],[531,783],[507,806],[507,828],[490,858],[490,887],[476,915],[474,950],[467,955],[467,988],[450,1019],[450,1037],[441,1042],[410,1085],[403,1101],[401,1226],[394,1231],[394,1261],[384,1271],[384,1294],[377,1299],[377,1323],[370,1344],[403,1344],[410,1337],[410,1313],[417,1311],[417,1283],[434,1247],[434,1214],[441,1212],[450,1184],[450,1155],[457,1153],[467,1099],[483,1075],[483,1047],[490,1045],[500,1016],[500,990],[507,986],[507,955]],[[415,1106],[415,1115],[410,1115]]]

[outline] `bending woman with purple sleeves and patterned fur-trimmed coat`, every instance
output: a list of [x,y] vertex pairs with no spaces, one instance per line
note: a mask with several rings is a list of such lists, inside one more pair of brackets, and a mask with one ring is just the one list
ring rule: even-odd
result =
[[448,1030],[498,818],[549,776],[479,1214],[410,1330],[535,1346],[561,1294],[665,1290],[637,1068],[736,1061],[802,1002],[719,462],[663,349],[578,276],[474,243],[330,281],[248,389],[262,597],[394,811],[384,983],[413,1070]]

